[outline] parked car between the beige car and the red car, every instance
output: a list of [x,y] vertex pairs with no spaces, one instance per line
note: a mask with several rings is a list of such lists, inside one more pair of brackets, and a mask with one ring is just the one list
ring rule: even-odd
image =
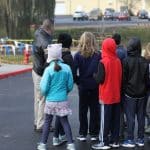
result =
[[106,8],[104,12],[104,20],[113,20],[115,10],[113,8]]

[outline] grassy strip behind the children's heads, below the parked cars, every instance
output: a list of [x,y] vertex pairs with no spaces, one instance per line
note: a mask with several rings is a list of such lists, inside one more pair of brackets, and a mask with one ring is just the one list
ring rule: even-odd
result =
[[[106,38],[110,37],[114,32],[118,32],[122,36],[122,43],[127,45],[129,39],[131,37],[137,36],[141,39],[142,45],[145,45],[150,42],[150,26],[136,26],[136,27],[99,27],[99,28],[70,28],[70,29],[57,29],[54,32],[54,39],[57,39],[60,33],[69,33],[71,34],[74,40],[78,40],[82,33],[85,31],[92,32],[97,38],[97,41],[101,41]],[[77,44],[76,44],[77,45]]]

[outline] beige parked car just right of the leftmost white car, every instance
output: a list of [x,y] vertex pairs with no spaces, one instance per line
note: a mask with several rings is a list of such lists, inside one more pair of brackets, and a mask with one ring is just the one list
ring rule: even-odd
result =
[[94,8],[89,12],[89,20],[102,20],[102,11],[99,8]]

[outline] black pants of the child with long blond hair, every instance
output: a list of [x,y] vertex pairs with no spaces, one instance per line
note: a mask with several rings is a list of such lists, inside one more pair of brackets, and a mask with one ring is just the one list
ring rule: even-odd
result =
[[86,136],[89,132],[90,135],[98,135],[99,119],[98,89],[79,90],[79,134]]

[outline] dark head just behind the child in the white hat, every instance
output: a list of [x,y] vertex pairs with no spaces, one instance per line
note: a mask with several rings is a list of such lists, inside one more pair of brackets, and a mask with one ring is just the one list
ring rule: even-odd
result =
[[58,36],[57,42],[62,44],[62,48],[70,48],[72,44],[72,37],[68,33],[61,33]]

